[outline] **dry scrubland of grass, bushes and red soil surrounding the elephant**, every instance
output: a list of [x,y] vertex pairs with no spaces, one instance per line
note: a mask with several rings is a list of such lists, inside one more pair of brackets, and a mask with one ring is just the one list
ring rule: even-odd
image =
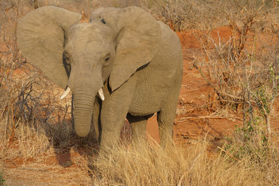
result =
[[[141,6],[176,31],[185,74],[173,146],[163,150],[150,138],[130,144],[126,123],[119,146],[96,159],[94,132],[85,139],[73,132],[71,98],[59,100],[63,90],[17,49],[17,20],[47,5],[82,13],[83,22],[100,6]],[[0,185],[278,185],[278,6],[275,0],[0,1]]]

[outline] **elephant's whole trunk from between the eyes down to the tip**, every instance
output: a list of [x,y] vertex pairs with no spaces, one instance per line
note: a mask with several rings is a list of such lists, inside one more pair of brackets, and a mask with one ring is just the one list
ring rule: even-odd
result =
[[100,88],[103,88],[102,66],[98,65],[98,61],[93,61],[97,64],[93,66],[93,62],[89,63],[89,59],[84,59],[83,56],[77,58],[77,61],[79,63],[76,62],[71,67],[68,86],[74,95],[75,133],[79,137],[86,137],[91,127],[96,95]]

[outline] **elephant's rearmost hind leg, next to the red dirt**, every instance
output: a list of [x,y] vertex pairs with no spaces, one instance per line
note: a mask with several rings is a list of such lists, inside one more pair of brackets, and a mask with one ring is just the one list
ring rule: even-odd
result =
[[170,139],[172,139],[179,90],[180,87],[172,89],[171,93],[169,93],[169,97],[165,100],[162,109],[157,113],[160,145],[163,147],[168,146],[168,143],[171,142]]

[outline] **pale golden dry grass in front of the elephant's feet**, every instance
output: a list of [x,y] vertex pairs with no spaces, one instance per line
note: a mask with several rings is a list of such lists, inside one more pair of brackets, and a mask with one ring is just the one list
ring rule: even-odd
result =
[[208,153],[208,143],[188,146],[122,144],[93,160],[95,185],[275,185],[278,150],[255,166],[248,157],[232,159],[230,153]]

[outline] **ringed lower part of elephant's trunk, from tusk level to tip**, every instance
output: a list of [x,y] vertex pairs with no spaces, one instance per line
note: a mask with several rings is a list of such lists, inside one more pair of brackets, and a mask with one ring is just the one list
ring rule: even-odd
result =
[[74,92],[75,132],[79,137],[86,137],[90,131],[96,91],[76,90]]

